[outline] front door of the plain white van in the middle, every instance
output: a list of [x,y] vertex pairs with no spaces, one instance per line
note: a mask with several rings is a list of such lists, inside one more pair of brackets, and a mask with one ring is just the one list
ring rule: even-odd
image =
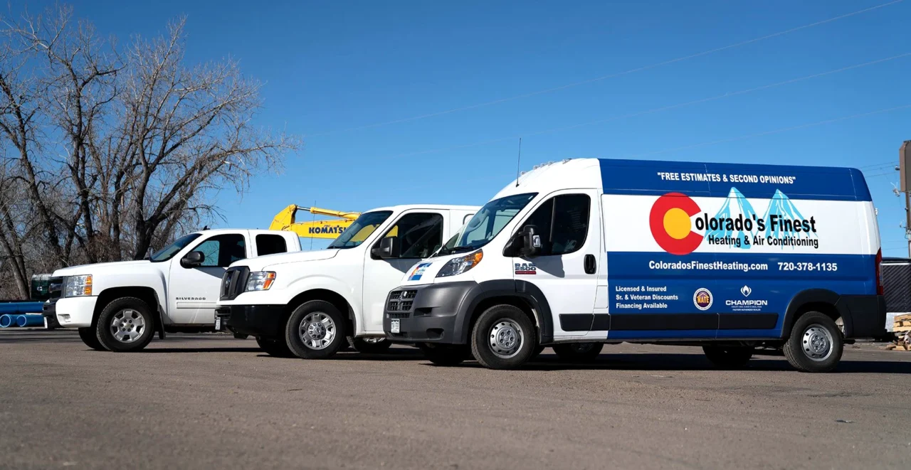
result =
[[[389,291],[402,283],[405,271],[443,245],[446,214],[439,210],[403,212],[392,227],[366,250],[363,260],[363,332],[383,332],[383,306]],[[395,259],[374,258],[371,251],[386,237],[398,237],[401,254]]]

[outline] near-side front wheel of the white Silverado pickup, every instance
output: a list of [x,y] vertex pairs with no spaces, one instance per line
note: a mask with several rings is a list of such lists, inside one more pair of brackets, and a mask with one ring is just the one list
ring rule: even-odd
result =
[[[123,338],[131,338],[129,341],[118,340],[113,331],[115,323],[123,325],[120,332],[124,334]],[[134,338],[130,333],[137,331],[138,336]],[[135,353],[145,349],[155,336],[155,317],[145,301],[121,297],[108,303],[98,315],[95,332],[98,342],[108,351]]]

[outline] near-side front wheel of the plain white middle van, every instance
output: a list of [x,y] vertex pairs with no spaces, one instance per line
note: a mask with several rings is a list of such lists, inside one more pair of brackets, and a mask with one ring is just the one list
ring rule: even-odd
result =
[[[307,325],[303,323],[306,321]],[[346,319],[328,301],[305,301],[294,309],[285,324],[285,341],[291,352],[302,359],[328,359],[342,348],[345,339]],[[314,329],[309,331],[312,325]],[[302,331],[303,328],[303,331]],[[303,336],[308,336],[304,343]],[[331,337],[330,337],[331,336]],[[322,341],[328,338],[328,342]],[[314,347],[319,345],[319,347]]]

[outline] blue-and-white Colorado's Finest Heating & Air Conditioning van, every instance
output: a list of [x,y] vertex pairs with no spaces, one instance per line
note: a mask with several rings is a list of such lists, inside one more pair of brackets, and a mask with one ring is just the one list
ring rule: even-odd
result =
[[389,293],[384,332],[431,361],[514,368],[606,342],[756,347],[826,372],[884,333],[875,209],[856,169],[580,158],[496,194]]

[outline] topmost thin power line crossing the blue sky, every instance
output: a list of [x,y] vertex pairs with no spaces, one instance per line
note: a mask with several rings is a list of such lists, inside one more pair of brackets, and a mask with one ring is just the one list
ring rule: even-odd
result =
[[637,73],[637,72],[641,72],[641,71],[643,71],[643,70],[649,70],[649,69],[651,69],[651,68],[656,68],[656,67],[660,67],[660,66],[668,66],[668,65],[670,65],[670,64],[676,64],[677,62],[682,62],[682,61],[684,61],[684,60],[689,60],[689,59],[691,59],[691,58],[696,58],[696,57],[701,57],[701,56],[708,56],[708,55],[714,54],[714,53],[716,53],[716,52],[721,52],[721,51],[728,50],[728,49],[732,49],[732,48],[735,48],[735,47],[746,46],[746,45],[749,45],[749,44],[753,44],[753,43],[757,43],[757,42],[760,42],[760,41],[764,41],[764,40],[766,40],[766,39],[771,39],[771,38],[773,38],[773,37],[788,35],[788,34],[791,34],[791,33],[794,33],[794,32],[797,32],[797,31],[806,29],[806,28],[810,28],[810,27],[814,27],[814,26],[820,26],[820,25],[825,25],[825,24],[827,24],[827,23],[832,23],[832,22],[834,22],[834,21],[838,21],[838,20],[841,20],[841,19],[844,19],[844,18],[847,18],[847,17],[850,17],[850,16],[861,15],[861,14],[863,14],[863,13],[870,12],[870,11],[873,11],[873,10],[876,10],[876,9],[879,9],[879,8],[883,8],[883,7],[885,7],[885,6],[895,5],[895,4],[901,3],[902,1],[904,1],[904,0],[893,0],[893,1],[891,1],[891,2],[886,2],[885,4],[880,4],[880,5],[871,6],[871,7],[869,7],[869,8],[864,8],[863,10],[857,10],[857,11],[855,11],[855,12],[847,13],[847,14],[844,14],[844,15],[833,16],[833,17],[831,17],[831,18],[827,18],[827,19],[824,19],[824,20],[821,20],[821,21],[816,21],[816,22],[810,23],[810,24],[808,24],[808,25],[797,26],[797,27],[793,27],[793,28],[790,28],[790,29],[785,29],[785,30],[783,30],[783,31],[779,31],[779,32],[773,33],[773,34],[771,34],[771,35],[765,35],[765,36],[754,37],[754,38],[748,39],[748,40],[746,40],[746,41],[741,41],[741,42],[734,43],[734,44],[730,44],[730,45],[727,45],[727,46],[715,47],[715,48],[713,48],[713,49],[709,49],[709,50],[705,50],[705,51],[698,52],[698,53],[695,53],[695,54],[691,54],[691,55],[689,55],[689,56],[680,56],[680,57],[672,58],[672,59],[670,59],[670,60],[665,60],[665,61],[663,61],[663,62],[658,62],[658,63],[655,63],[655,64],[650,64],[650,65],[648,65],[648,66],[639,66],[639,67],[635,67],[635,68],[630,68],[629,70],[624,70],[624,71],[622,71],[622,72],[617,72],[617,73],[613,73],[613,74],[609,74],[609,75],[604,75],[604,76],[601,76],[601,77],[589,78],[589,79],[587,79],[587,80],[582,80],[582,81],[578,81],[578,82],[574,82],[574,83],[569,83],[569,84],[567,84],[567,85],[561,85],[561,86],[559,86],[559,87],[544,88],[544,89],[540,89],[540,90],[537,90],[537,91],[532,91],[532,92],[528,92],[528,93],[523,93],[523,94],[521,94],[521,95],[516,95],[516,96],[513,96],[513,97],[498,98],[498,99],[495,99],[495,100],[493,100],[493,101],[486,101],[486,102],[484,102],[484,103],[477,103],[477,104],[474,104],[474,105],[468,105],[468,106],[464,106],[464,107],[452,107],[452,108],[449,108],[449,109],[445,109],[445,110],[443,110],[443,111],[436,111],[436,112],[434,112],[434,113],[422,114],[422,115],[417,115],[417,116],[412,116],[412,117],[402,117],[402,118],[399,118],[399,119],[393,119],[393,120],[384,121],[384,122],[377,122],[377,123],[373,123],[373,124],[366,124],[366,125],[363,125],[363,126],[356,126],[356,127],[353,127],[353,128],[343,128],[343,129],[337,129],[337,130],[329,130],[329,131],[326,131],[326,132],[320,132],[320,133],[316,133],[316,134],[310,134],[310,135],[304,136],[304,137],[310,137],[310,138],[312,138],[312,137],[326,136],[326,135],[330,135],[330,134],[341,134],[341,133],[344,133],[344,132],[352,132],[352,131],[355,131],[355,130],[363,130],[363,129],[366,129],[366,128],[379,128],[379,127],[383,127],[383,126],[390,126],[390,125],[393,125],[393,124],[399,124],[399,123],[408,122],[408,121],[415,121],[415,120],[418,120],[418,119],[425,119],[425,118],[427,118],[427,117],[443,116],[443,115],[445,115],[445,114],[456,113],[456,112],[460,112],[460,111],[467,111],[467,110],[469,110],[469,109],[476,109],[476,108],[478,108],[478,107],[487,107],[487,106],[497,105],[497,104],[500,104],[500,103],[505,103],[505,102],[507,102],[507,101],[513,101],[513,100],[516,100],[516,99],[521,99],[521,98],[526,98],[526,97],[534,97],[534,96],[537,96],[537,95],[543,95],[543,94],[546,94],[546,93],[552,93],[552,92],[555,92],[555,91],[564,90],[564,89],[571,88],[571,87],[578,87],[578,86],[581,86],[581,85],[588,85],[589,83],[595,83],[595,82],[599,82],[599,81],[602,81],[602,80],[607,80],[607,79],[609,79],[609,78],[622,77],[622,76],[625,76],[625,75],[630,75],[630,74],[634,74],[634,73]]

